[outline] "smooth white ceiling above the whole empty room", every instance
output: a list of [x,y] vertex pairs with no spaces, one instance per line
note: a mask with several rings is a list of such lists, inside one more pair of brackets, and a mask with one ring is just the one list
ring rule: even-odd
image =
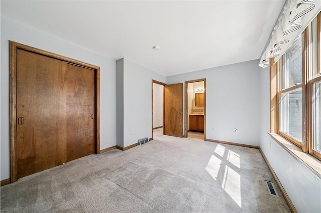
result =
[[284,3],[1,0],[1,16],[170,76],[259,59]]

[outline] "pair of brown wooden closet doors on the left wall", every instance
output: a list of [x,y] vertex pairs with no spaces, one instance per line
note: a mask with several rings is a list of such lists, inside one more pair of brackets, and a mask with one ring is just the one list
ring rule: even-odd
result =
[[95,153],[94,75],[17,49],[17,178]]

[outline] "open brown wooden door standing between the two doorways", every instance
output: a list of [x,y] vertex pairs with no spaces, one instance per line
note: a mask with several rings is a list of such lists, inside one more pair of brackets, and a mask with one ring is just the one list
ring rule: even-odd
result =
[[183,137],[183,83],[164,86],[164,134]]

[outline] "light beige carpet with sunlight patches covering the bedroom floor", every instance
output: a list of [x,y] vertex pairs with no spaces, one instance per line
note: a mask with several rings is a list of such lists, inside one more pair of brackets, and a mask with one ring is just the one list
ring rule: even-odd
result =
[[[3,186],[1,212],[289,212],[259,150],[154,134]],[[276,185],[276,184],[275,184]]]

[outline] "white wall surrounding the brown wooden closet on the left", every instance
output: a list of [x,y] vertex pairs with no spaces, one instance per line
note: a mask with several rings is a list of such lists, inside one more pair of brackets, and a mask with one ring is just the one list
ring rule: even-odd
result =
[[8,40],[99,66],[100,149],[116,145],[116,61],[1,18],[1,180],[10,178]]

